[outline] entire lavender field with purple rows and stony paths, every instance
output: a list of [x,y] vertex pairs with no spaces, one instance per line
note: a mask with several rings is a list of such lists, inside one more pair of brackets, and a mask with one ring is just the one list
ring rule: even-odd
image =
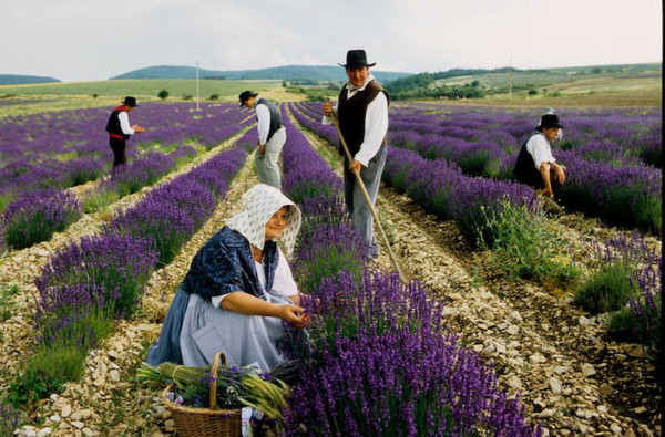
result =
[[[0,434],[175,430],[135,371],[193,254],[257,183],[254,117],[146,103],[112,173],[108,110],[0,121]],[[364,257],[320,104],[282,104],[313,316],[288,352],[288,435],[662,431],[661,110],[557,108],[557,218],[511,174],[542,110],[393,104],[377,207],[402,284],[386,250]],[[41,237],[10,238],[25,228]]]

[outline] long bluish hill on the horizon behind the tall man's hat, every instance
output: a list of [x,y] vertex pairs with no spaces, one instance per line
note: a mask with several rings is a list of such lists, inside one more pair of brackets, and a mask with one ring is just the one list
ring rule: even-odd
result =
[[[396,73],[372,70],[371,73],[381,83],[396,81],[412,73]],[[134,70],[117,76],[116,79],[196,79],[196,67],[158,65]],[[332,65],[285,65],[260,70],[227,70],[214,71],[198,69],[198,79],[226,79],[229,81],[242,80],[279,80],[298,82],[339,82],[346,80],[344,69]]]

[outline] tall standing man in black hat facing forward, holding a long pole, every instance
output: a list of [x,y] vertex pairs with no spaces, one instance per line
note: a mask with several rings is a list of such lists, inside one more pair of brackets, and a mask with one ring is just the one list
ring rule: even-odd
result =
[[324,104],[324,124],[330,124],[331,116],[339,121],[339,131],[349,147],[352,162],[342,150],[344,194],[346,206],[354,226],[369,244],[369,257],[379,256],[379,247],[374,236],[374,218],[360,187],[356,183],[355,171],[367,188],[371,204],[376,202],[381,183],[381,173],[386,164],[386,134],[388,133],[389,97],[369,72],[375,63],[367,62],[365,50],[349,50],[346,64],[348,82],[339,93],[336,106]]

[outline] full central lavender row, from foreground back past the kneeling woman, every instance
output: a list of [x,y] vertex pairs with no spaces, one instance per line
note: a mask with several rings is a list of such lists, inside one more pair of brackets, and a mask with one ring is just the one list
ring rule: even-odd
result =
[[[519,399],[498,391],[479,356],[441,333],[442,308],[418,281],[403,285],[395,274],[364,270],[361,252],[352,257],[359,239],[342,212],[340,179],[331,180],[306,138],[286,126],[284,187],[311,217],[297,264],[307,279],[319,278],[303,298],[313,315],[309,337],[291,339],[301,383],[285,414],[287,434],[540,434],[525,423]],[[320,273],[321,264],[339,259],[359,264]]]

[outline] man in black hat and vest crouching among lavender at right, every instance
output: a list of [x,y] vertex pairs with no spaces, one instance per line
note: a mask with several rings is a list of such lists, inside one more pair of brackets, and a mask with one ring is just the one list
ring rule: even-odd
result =
[[559,138],[562,128],[554,110],[548,110],[536,132],[522,145],[513,169],[520,183],[532,186],[536,195],[543,196],[545,209],[552,214],[562,211],[553,198],[565,183],[565,167],[556,164],[550,144]]

